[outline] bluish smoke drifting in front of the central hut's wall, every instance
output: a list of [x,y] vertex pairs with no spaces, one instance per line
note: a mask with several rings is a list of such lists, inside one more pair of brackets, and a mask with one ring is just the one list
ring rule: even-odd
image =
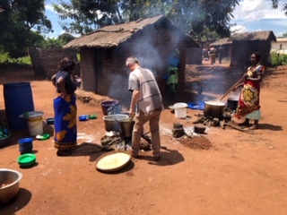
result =
[[[165,32],[165,33],[163,33]],[[168,58],[174,48],[178,48],[178,43],[182,40],[182,33],[178,34],[178,30],[161,30],[159,26],[151,25],[143,30],[136,31],[135,35],[126,42],[129,56],[135,56],[143,68],[152,71],[155,79],[163,79],[163,75],[167,73]],[[180,50],[180,48],[178,48]],[[117,51],[120,55],[122,52]],[[126,56],[127,57],[127,56]],[[111,86],[109,89],[109,97],[120,98],[124,103],[130,103],[131,93],[128,91],[128,76],[130,71],[126,68],[126,59],[123,62],[121,71],[126,74],[113,72],[110,77]]]

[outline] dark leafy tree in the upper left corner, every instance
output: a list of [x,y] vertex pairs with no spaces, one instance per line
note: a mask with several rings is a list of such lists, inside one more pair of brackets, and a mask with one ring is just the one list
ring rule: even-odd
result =
[[52,31],[52,24],[45,13],[44,0],[0,0],[0,50],[9,56],[25,56],[28,47],[35,44],[39,32]]

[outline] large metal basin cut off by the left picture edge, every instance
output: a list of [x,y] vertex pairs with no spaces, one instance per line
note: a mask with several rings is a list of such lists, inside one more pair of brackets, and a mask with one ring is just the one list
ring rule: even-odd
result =
[[22,173],[13,169],[0,168],[0,204],[9,202],[19,192]]

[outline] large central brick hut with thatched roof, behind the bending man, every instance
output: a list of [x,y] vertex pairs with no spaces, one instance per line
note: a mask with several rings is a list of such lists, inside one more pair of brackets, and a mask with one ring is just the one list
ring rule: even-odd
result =
[[109,25],[64,46],[80,49],[83,90],[121,101],[131,96],[127,90],[130,72],[126,68],[126,57],[136,56],[143,67],[152,70],[164,96],[167,88],[163,76],[167,73],[168,57],[174,48],[179,50],[181,62],[178,93],[183,93],[188,47],[199,45],[162,15]]

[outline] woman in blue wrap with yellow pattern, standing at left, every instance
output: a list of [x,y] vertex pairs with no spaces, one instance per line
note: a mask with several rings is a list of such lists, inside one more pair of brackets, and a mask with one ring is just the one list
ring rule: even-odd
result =
[[52,82],[56,87],[54,99],[54,146],[57,156],[72,154],[77,144],[75,62],[65,57],[59,65]]

